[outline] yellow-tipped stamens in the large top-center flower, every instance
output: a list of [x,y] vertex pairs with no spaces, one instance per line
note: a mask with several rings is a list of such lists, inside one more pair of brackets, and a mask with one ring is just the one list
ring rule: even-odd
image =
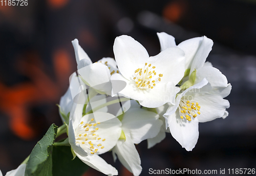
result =
[[163,74],[158,74],[154,70],[156,67],[151,64],[145,63],[143,68],[135,70],[135,77],[133,78],[136,86],[140,89],[153,89],[158,82],[161,81]]

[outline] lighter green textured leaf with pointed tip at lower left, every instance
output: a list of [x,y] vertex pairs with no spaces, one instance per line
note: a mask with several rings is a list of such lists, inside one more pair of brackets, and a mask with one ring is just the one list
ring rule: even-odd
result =
[[25,170],[25,176],[52,176],[52,148],[57,126],[52,124],[45,136],[33,148]]

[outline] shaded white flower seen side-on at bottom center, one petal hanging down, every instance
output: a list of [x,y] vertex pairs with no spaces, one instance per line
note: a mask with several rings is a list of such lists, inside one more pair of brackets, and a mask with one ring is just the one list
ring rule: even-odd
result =
[[[159,115],[137,107],[137,102],[131,101],[131,107],[124,114],[119,116],[122,122],[122,135],[112,149],[114,160],[116,155],[119,161],[134,175],[141,173],[141,161],[134,144],[142,140],[155,137],[161,128],[162,121]],[[123,108],[125,109],[125,104]],[[121,111],[118,112],[121,114]],[[116,155],[115,155],[116,154]]]

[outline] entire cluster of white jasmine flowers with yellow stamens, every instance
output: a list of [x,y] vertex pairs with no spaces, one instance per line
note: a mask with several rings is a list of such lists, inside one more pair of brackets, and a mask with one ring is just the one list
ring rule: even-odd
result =
[[[148,56],[138,41],[122,35],[114,42],[115,59],[96,63],[77,39],[72,41],[78,71],[61,97],[59,112],[68,124],[74,157],[104,174],[118,172],[100,154],[111,150],[114,161],[118,158],[139,175],[135,144],[147,139],[150,148],[171,133],[190,151],[199,137],[199,122],[228,115],[229,102],[223,98],[231,85],[205,62],[212,40],[203,36],[176,45],[173,36],[157,35],[161,52],[156,56]],[[108,95],[116,99],[108,100]],[[109,106],[114,103],[114,108]]]

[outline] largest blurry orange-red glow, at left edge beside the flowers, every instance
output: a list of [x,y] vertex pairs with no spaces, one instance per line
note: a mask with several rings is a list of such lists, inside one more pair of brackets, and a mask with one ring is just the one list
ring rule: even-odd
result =
[[56,51],[53,58],[57,79],[47,74],[41,59],[31,52],[24,56],[26,59],[15,62],[17,70],[30,81],[12,87],[0,82],[0,110],[10,118],[13,133],[22,139],[31,140],[38,135],[35,130],[37,128],[30,125],[31,118],[36,118],[32,117],[31,108],[45,103],[58,103],[60,96],[65,92],[63,88],[68,87],[73,64],[70,63],[68,54],[63,51],[64,49]]

